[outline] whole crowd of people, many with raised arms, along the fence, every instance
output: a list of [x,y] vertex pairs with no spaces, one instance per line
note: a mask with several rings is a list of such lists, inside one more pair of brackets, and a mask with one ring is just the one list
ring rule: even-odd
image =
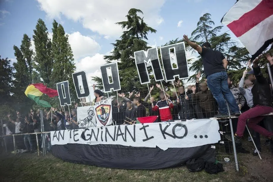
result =
[[[227,134],[222,136],[224,141],[231,141],[235,138],[237,152],[249,153],[242,147],[241,138],[244,135],[246,124],[252,131],[253,138],[257,145],[258,151],[261,152],[260,134],[267,138],[264,145],[272,143],[273,146],[273,126],[272,117],[265,116],[273,112],[272,107],[272,89],[269,81],[261,73],[258,66],[259,57],[247,67],[250,71],[243,73],[239,83],[233,83],[231,77],[227,75],[226,69],[228,61],[225,56],[211,49],[211,45],[205,42],[202,46],[191,42],[186,35],[184,41],[193,49],[197,50],[202,57],[205,73],[205,81],[200,82],[201,73],[197,73],[194,85],[188,85],[186,88],[180,80],[174,82],[172,94],[168,94],[165,88],[156,84],[158,97],[152,96],[151,92],[154,86],[150,87],[145,98],[141,97],[140,92],[130,92],[128,97],[125,93],[119,93],[119,99],[113,98],[112,101],[112,118],[115,124],[134,124],[137,118],[145,116],[158,116],[156,122],[191,120],[193,118],[222,118],[221,128],[225,128]],[[273,56],[267,55],[269,63],[272,65]],[[247,78],[246,75],[248,75]],[[238,84],[238,86],[236,86]],[[106,99],[104,93],[95,88],[93,85],[95,102]],[[154,92],[153,92],[154,93]],[[134,97],[132,97],[134,94]],[[43,117],[44,131],[56,131],[63,129],[78,129],[77,107],[75,105],[70,112],[68,110],[57,110],[51,108],[50,111],[35,113],[33,110],[28,116],[22,118],[21,113],[17,112],[15,117],[8,114],[9,121],[4,124],[4,134],[33,133],[41,131],[40,119]],[[233,129],[234,136],[229,135],[230,127],[227,120],[223,118],[234,117]],[[220,120],[221,121],[221,120]],[[263,121],[263,122],[261,122]],[[247,123],[248,122],[248,123]],[[262,127],[262,125],[264,127]],[[24,147],[27,151],[35,150],[36,140],[33,135],[22,135]],[[21,136],[16,136],[16,141],[20,141]],[[50,137],[46,135],[47,143],[45,147],[51,150]],[[39,136],[39,145],[41,146],[41,137]],[[250,140],[250,139],[249,139]],[[12,142],[10,142],[12,143]],[[16,143],[16,147],[19,144]],[[273,148],[272,148],[273,149]],[[225,144],[225,152],[232,150],[230,145]],[[273,150],[272,150],[273,151]],[[257,150],[253,152],[257,155]]]

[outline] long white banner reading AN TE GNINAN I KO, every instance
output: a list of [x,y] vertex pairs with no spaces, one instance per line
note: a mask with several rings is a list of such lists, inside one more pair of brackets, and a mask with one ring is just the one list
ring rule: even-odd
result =
[[196,147],[218,143],[219,124],[215,119],[90,127],[51,132],[51,145],[67,143],[115,144],[133,147]]

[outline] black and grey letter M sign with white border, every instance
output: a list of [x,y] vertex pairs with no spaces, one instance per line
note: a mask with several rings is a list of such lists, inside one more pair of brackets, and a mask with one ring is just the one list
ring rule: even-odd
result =
[[[146,56],[147,55],[147,56]],[[145,52],[144,50],[134,52],[136,69],[141,84],[150,83],[150,77],[146,63],[151,63],[153,74],[156,81],[164,80],[161,65],[158,57],[157,48],[150,48]]]

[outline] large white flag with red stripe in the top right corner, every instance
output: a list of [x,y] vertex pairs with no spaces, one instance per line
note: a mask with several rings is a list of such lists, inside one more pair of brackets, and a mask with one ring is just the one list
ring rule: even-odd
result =
[[221,23],[228,26],[254,59],[273,42],[273,0],[239,0]]

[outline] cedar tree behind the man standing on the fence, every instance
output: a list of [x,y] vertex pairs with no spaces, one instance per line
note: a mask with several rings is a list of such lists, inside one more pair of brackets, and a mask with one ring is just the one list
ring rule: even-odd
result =
[[[228,60],[228,70],[238,70],[237,73],[241,75],[243,67],[245,67],[246,62],[250,59],[250,55],[246,48],[239,47],[238,43],[231,39],[228,33],[223,33],[216,35],[222,29],[222,26],[213,27],[214,22],[211,20],[211,15],[209,13],[204,14],[200,17],[197,28],[192,32],[192,41],[197,42],[201,45],[204,42],[210,42],[211,48],[219,50],[222,52]],[[186,45],[186,48],[189,48]],[[192,52],[195,52],[193,49]],[[196,52],[195,52],[196,53]],[[199,72],[203,69],[203,63],[201,56],[197,57],[197,60],[191,64],[189,68],[190,71]],[[234,72],[233,72],[234,73]],[[203,79],[205,75],[203,74]],[[194,79],[195,75],[192,75],[190,79]],[[234,80],[235,83],[238,81]]]

